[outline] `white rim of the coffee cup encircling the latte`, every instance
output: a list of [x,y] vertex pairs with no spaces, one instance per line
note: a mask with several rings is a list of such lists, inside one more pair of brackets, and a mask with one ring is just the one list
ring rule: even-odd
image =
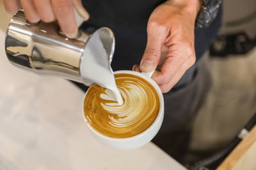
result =
[[[93,129],[93,127],[87,123],[87,120],[85,118],[85,115],[84,115],[84,99],[86,97],[86,94],[87,94],[88,90],[86,91],[86,93],[84,94],[84,97],[83,97],[83,118],[84,118],[84,122],[86,123],[87,127],[89,127],[89,129],[94,134],[96,134],[97,136],[100,136],[100,138],[108,139],[108,140],[111,140],[111,141],[130,141],[132,139],[140,138],[144,134],[147,134],[148,131],[151,131],[154,128],[154,126],[156,126],[157,123],[159,121],[161,121],[161,116],[164,114],[164,99],[163,99],[163,94],[161,92],[161,89],[159,88],[157,83],[154,80],[152,80],[150,77],[146,76],[145,74],[142,74],[142,73],[139,73],[139,72],[136,72],[136,71],[131,71],[131,70],[114,71],[114,74],[118,74],[118,73],[127,73],[127,74],[134,74],[136,76],[140,76],[141,78],[147,80],[154,87],[154,89],[157,92],[157,96],[159,98],[159,111],[157,113],[157,117],[154,120],[154,122],[145,131],[141,132],[140,134],[136,134],[135,136],[131,136],[129,138],[112,138],[112,137],[109,137],[109,136],[105,136],[104,134],[101,134],[100,132]],[[89,87],[89,89],[90,89],[90,87]]]

